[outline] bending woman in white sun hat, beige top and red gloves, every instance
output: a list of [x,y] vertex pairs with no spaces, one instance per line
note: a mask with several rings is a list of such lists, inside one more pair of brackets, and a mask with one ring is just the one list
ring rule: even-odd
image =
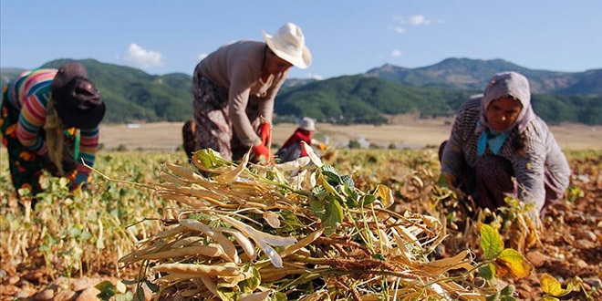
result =
[[194,69],[194,119],[182,129],[189,157],[201,149],[240,160],[253,149],[252,161],[270,157],[275,96],[290,67],[306,68],[312,57],[299,26],[286,23],[265,42],[242,40],[220,47]]

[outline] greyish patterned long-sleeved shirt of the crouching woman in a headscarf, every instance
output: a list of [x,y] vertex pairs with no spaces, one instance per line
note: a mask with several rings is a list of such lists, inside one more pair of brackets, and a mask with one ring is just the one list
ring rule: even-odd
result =
[[[462,161],[474,168],[481,158],[477,154],[480,134],[475,131],[481,116],[482,99],[476,97],[464,102],[441,155],[441,173],[452,175],[456,181],[461,175]],[[512,145],[513,140],[519,139],[515,130],[504,141],[499,155],[512,163],[514,176],[519,183],[519,196],[524,196],[524,202],[535,202],[537,208],[541,209],[545,203],[545,168],[550,171],[550,180],[555,187],[561,190],[568,187],[571,171],[565,155],[544,120],[535,116],[535,119],[527,124],[524,132],[524,155],[514,150]]]

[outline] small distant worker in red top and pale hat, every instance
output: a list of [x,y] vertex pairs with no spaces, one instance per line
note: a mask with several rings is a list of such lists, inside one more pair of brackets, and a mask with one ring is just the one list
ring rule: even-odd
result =
[[316,121],[307,117],[303,118],[293,135],[275,153],[276,160],[287,162],[306,157],[307,152],[301,146],[301,141],[305,141],[307,145],[311,146],[311,135],[314,131],[316,131]]

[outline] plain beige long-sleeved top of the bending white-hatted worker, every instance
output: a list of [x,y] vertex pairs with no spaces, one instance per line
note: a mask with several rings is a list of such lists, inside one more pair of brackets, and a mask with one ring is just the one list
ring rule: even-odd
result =
[[234,132],[247,146],[261,142],[245,113],[249,96],[260,99],[260,116],[272,122],[275,96],[288,75],[286,70],[265,81],[261,80],[265,47],[265,43],[257,41],[239,41],[226,45],[203,58],[195,69],[195,72],[201,72],[214,84],[228,91],[228,114]]

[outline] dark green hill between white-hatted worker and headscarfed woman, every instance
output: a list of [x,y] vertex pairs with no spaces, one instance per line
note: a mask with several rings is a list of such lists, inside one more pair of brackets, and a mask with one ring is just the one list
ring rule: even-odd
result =
[[386,122],[384,115],[452,115],[470,94],[458,89],[400,86],[362,75],[346,76],[283,89],[276,97],[275,112],[281,118],[309,116],[342,124],[381,124]]

